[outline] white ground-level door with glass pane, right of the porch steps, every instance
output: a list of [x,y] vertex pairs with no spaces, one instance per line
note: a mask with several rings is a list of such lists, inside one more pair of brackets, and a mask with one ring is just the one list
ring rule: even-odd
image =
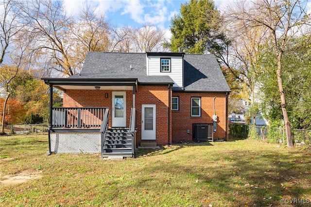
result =
[[155,140],[155,104],[141,106],[141,139]]

